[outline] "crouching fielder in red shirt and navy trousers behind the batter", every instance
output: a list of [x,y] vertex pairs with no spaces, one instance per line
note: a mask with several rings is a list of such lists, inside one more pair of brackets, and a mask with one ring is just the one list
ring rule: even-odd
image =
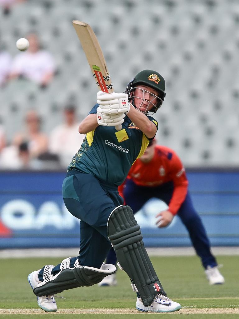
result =
[[[193,207],[184,166],[172,149],[156,145],[156,140],[151,140],[141,158],[134,162],[125,182],[119,186],[119,193],[134,213],[151,198],[159,198],[165,202],[168,209],[158,212],[156,225],[158,227],[169,225],[177,214],[188,230],[197,255],[201,258],[209,283],[211,285],[224,283],[216,259],[211,253],[205,228]],[[116,263],[113,250],[110,251],[106,263]],[[111,277],[105,277],[99,285],[115,284],[116,278],[113,274]]]

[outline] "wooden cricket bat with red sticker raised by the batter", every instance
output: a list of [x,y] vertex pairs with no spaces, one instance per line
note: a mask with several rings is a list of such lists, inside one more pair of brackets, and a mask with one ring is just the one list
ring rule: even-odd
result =
[[[73,20],[72,24],[81,42],[81,46],[90,65],[96,84],[99,86],[102,92],[114,92],[103,52],[91,26],[78,20]],[[122,125],[119,124],[115,126],[115,129],[118,131],[121,130]]]

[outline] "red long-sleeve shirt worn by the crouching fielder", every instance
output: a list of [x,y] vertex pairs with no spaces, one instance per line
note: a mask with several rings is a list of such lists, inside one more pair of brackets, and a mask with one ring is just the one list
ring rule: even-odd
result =
[[[188,180],[184,166],[177,154],[166,146],[156,145],[154,157],[148,163],[137,159],[131,167],[127,179],[131,179],[136,185],[146,187],[156,187],[170,181],[173,182],[174,190],[169,210],[174,215],[177,214],[187,194]],[[124,183],[119,186],[121,196]]]

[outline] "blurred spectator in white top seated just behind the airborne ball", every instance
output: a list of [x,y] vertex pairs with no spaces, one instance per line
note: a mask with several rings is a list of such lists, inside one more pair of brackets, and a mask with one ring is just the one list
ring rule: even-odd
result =
[[29,48],[13,59],[10,78],[22,76],[44,88],[54,76],[54,58],[46,50],[40,49],[39,39],[35,33],[29,34],[27,39]]

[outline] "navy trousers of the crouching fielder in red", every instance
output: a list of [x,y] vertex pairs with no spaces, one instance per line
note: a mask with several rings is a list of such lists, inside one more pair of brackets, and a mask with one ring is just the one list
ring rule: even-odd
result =
[[[127,180],[123,195],[125,203],[129,205],[134,213],[139,211],[142,206],[151,198],[158,198],[165,202],[167,205],[170,202],[173,194],[173,183],[168,182],[157,187],[144,187],[136,185],[132,180]],[[214,267],[217,265],[215,257],[211,253],[209,239],[202,221],[195,211],[192,199],[187,193],[184,202],[180,206],[178,217],[182,220],[183,224],[188,230],[192,245],[196,250],[197,255],[201,258],[203,267],[206,269],[208,265]],[[136,217],[137,219],[137,217]],[[107,257],[107,263],[115,262],[115,256],[111,251]]]

